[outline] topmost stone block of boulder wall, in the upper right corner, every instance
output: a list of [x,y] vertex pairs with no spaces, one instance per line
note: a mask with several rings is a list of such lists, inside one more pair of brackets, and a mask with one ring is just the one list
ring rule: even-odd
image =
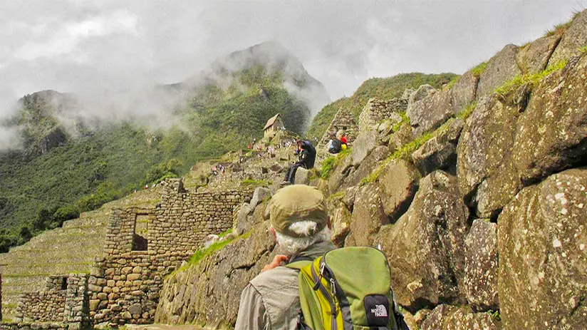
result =
[[549,59],[549,64],[556,64],[580,53],[579,49],[587,45],[587,10],[581,11],[571,26],[563,34],[563,38]]

